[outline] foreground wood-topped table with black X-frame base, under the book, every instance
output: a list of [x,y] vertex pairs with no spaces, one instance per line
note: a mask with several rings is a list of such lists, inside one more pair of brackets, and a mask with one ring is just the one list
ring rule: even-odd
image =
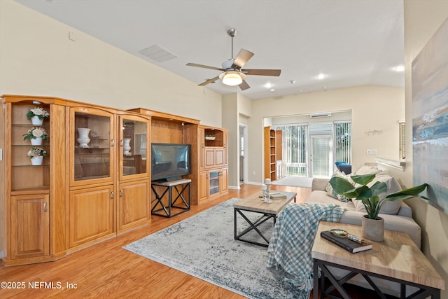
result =
[[[339,246],[321,237],[321,231],[339,228],[352,235],[362,235],[361,227],[344,223],[321,221],[311,251],[314,259],[314,299],[318,298],[318,268],[321,268],[321,298],[337,289],[343,298],[351,298],[342,284],[357,274],[363,275],[377,292],[379,298],[386,296],[379,290],[370,277],[379,277],[401,284],[400,298],[432,298],[440,299],[440,289],[444,289],[444,280],[430,264],[412,239],[404,232],[384,231],[383,242],[372,242],[373,248],[358,253],[349,253]],[[351,271],[346,277],[337,280],[327,266]],[[332,286],[325,290],[324,280],[327,277]],[[414,294],[406,297],[406,286],[419,288]],[[337,298],[332,296],[332,298]]]

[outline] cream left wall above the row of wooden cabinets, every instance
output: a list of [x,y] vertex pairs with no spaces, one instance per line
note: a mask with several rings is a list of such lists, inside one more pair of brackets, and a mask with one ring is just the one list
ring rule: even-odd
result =
[[221,127],[221,95],[12,0],[0,1],[0,45],[0,94],[144,107]]

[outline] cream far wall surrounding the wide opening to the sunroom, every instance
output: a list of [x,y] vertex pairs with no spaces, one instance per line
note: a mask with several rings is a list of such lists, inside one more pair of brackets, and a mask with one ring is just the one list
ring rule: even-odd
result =
[[[367,155],[367,148],[377,149],[381,158],[398,160],[398,120],[405,118],[404,96],[402,88],[360,86],[252,101],[248,126],[248,181],[262,181],[262,127],[270,125],[277,116],[351,111],[353,169],[365,162],[375,162],[373,155]],[[370,130],[380,130],[382,134],[367,136],[365,132]]]

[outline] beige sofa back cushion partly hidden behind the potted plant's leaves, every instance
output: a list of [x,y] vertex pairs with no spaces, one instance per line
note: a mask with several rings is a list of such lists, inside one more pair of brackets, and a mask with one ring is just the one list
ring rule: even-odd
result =
[[[388,174],[384,174],[381,172],[377,174],[373,179],[373,181],[368,183],[367,186],[371,187],[377,181],[384,182],[387,185],[387,191],[379,195],[379,200],[382,200],[388,194],[395,193],[401,190],[400,184],[395,180],[393,176],[388,176]],[[384,204],[381,206],[379,213],[396,215],[400,210],[401,202],[402,202],[401,200],[396,200],[394,202],[386,200],[386,202],[384,202]],[[353,204],[355,206],[356,211],[366,212],[364,204],[361,200],[353,200]]]

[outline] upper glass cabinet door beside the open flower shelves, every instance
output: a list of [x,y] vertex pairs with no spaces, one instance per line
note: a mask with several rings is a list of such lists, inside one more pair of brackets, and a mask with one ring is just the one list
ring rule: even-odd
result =
[[111,181],[113,115],[96,109],[73,109],[73,181]]

